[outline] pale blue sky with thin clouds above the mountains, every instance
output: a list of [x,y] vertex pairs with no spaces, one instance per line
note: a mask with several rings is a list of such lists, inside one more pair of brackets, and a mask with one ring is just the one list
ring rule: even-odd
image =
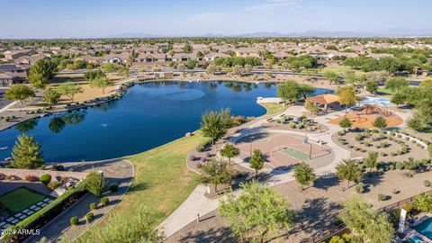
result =
[[0,38],[432,29],[430,0],[0,0]]

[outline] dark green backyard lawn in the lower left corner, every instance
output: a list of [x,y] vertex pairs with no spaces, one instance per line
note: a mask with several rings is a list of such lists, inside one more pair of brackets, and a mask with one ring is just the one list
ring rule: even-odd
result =
[[25,187],[20,187],[0,196],[0,202],[3,202],[8,210],[19,212],[44,198],[45,196],[40,193],[34,193]]

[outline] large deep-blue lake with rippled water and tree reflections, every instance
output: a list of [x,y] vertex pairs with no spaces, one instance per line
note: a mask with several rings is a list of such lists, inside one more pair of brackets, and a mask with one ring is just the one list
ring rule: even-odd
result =
[[[260,116],[257,97],[274,97],[275,85],[237,82],[157,82],[130,87],[120,100],[98,107],[24,121],[0,131],[0,159],[10,157],[16,137],[40,141],[50,162],[122,157],[156,148],[200,127],[207,110],[229,108],[233,115]],[[316,94],[329,93],[317,89]]]

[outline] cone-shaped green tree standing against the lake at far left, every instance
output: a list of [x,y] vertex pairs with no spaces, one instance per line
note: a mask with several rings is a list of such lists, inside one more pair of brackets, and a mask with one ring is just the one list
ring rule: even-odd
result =
[[18,136],[12,149],[12,165],[17,168],[34,169],[43,165],[43,153],[40,142],[34,141],[33,136],[23,134]]

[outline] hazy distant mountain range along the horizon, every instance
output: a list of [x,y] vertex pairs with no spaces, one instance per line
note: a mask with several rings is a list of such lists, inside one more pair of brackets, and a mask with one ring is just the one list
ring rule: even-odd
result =
[[[175,35],[157,35],[143,32],[127,32],[116,35],[106,36],[106,38],[163,38],[163,37],[178,37]],[[243,33],[238,35],[224,35],[218,33],[206,33],[203,35],[190,35],[184,37],[207,37],[207,38],[222,38],[222,37],[432,37],[432,29],[428,30],[410,30],[410,29],[392,29],[387,31],[362,32],[362,31],[302,31],[292,33],[280,32],[253,32]]]

